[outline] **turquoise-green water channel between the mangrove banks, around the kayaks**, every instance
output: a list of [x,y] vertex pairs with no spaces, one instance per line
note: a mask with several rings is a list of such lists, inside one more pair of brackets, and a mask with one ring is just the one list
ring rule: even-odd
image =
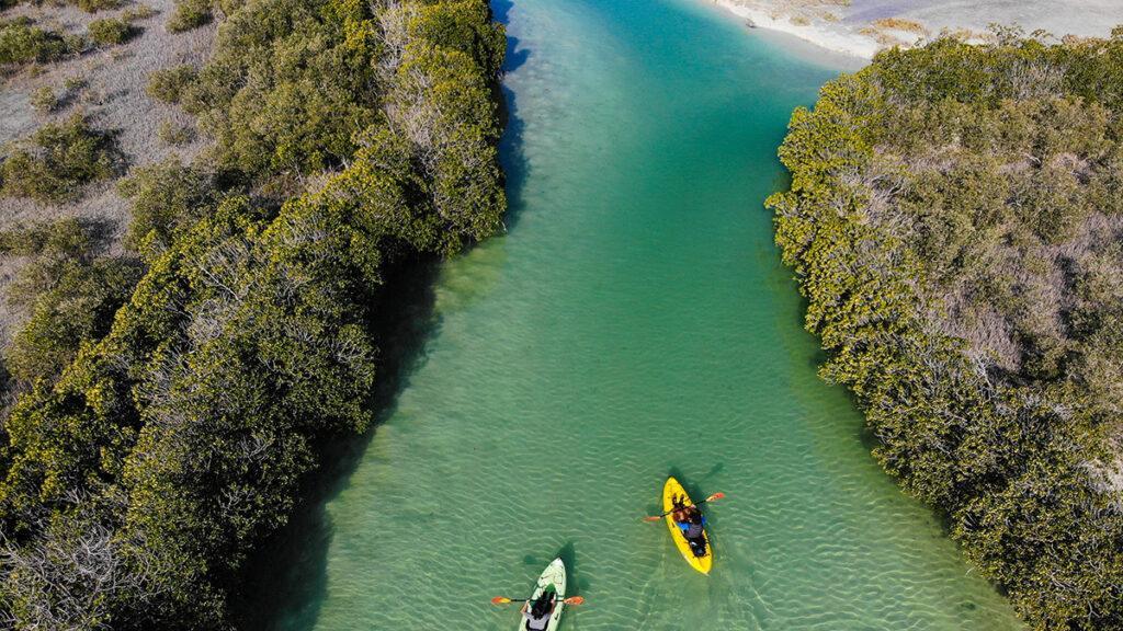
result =
[[[384,424],[284,575],[292,630],[514,629],[562,554],[563,629],[1016,629],[869,456],[761,200],[838,70],[691,0],[518,0],[509,231],[444,266]],[[668,473],[709,509],[687,567]],[[310,569],[312,568],[312,569]]]

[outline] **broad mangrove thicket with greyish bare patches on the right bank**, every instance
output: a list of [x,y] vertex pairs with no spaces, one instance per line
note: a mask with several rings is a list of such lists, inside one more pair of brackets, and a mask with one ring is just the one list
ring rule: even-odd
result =
[[905,488],[1038,629],[1123,628],[1123,29],[879,54],[769,199],[806,327]]

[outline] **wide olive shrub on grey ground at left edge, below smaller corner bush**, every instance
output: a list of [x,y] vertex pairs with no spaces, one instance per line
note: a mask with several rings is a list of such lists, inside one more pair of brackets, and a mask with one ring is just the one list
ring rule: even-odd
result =
[[43,126],[4,159],[2,191],[44,203],[65,201],[83,184],[112,175],[117,162],[112,138],[74,116]]

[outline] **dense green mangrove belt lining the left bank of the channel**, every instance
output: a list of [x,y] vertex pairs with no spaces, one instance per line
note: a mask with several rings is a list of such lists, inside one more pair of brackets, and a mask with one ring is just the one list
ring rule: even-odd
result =
[[390,4],[223,4],[183,98],[214,162],[122,184],[147,271],[2,427],[12,627],[223,628],[318,442],[372,420],[383,267],[499,228],[502,30],[485,0]]

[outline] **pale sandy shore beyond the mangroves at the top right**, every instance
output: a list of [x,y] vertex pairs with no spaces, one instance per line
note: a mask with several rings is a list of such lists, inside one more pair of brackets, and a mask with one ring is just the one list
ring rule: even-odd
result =
[[921,44],[941,31],[984,40],[992,22],[1054,37],[1107,37],[1123,24],[1123,0],[701,0],[747,26],[793,35],[828,51],[869,60],[877,51]]

